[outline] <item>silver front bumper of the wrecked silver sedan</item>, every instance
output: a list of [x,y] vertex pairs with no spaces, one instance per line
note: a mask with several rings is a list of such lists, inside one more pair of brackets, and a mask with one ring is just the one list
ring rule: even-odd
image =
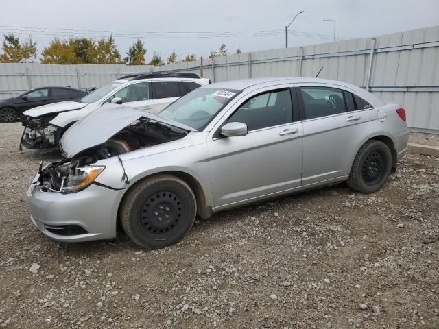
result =
[[43,191],[39,174],[27,191],[32,223],[56,241],[80,242],[113,239],[117,210],[126,190],[91,184],[77,193]]

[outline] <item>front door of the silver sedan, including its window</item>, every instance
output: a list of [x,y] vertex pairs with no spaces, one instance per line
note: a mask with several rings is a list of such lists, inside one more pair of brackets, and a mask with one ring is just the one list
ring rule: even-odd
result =
[[208,141],[215,207],[300,186],[303,130],[294,120],[297,110],[288,87],[254,92],[235,106],[224,123],[246,123],[248,134],[215,134]]

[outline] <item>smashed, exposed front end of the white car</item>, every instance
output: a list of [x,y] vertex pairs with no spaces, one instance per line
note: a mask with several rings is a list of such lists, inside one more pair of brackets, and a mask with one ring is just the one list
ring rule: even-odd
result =
[[43,117],[23,117],[21,120],[24,126],[23,134],[20,141],[20,150],[22,145],[27,149],[47,149],[58,145],[59,127],[51,125],[50,121],[54,115],[45,115]]

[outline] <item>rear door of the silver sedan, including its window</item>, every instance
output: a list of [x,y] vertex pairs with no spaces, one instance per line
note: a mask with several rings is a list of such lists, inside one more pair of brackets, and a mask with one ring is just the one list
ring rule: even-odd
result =
[[302,185],[349,175],[351,160],[368,135],[367,113],[353,90],[335,85],[298,84],[303,123]]

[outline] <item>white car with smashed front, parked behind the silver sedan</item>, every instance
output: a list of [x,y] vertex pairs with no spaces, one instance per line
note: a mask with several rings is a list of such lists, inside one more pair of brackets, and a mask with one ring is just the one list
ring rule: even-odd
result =
[[130,108],[157,114],[191,90],[209,84],[193,73],[136,73],[86,95],[80,101],[38,106],[23,112],[24,131],[20,149],[47,149],[58,147],[64,132],[76,121],[104,103],[123,103]]

